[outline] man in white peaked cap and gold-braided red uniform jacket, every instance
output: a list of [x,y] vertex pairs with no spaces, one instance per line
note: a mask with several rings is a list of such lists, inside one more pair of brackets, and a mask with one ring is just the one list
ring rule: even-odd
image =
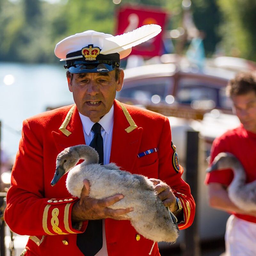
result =
[[[127,44],[125,36],[122,42]],[[119,44],[116,37],[89,30],[56,45],[56,56],[66,60],[75,105],[23,122],[4,215],[14,232],[30,235],[23,255],[159,255],[157,244],[152,247],[153,242],[121,216],[133,208],[108,208],[123,195],[91,198],[88,180],[80,199],[68,193],[64,178],[51,186],[57,155],[78,144],[97,142],[100,163],[114,162],[151,178],[179,228],[192,224],[195,202],[181,179],[168,119],[115,100],[124,79],[120,59],[131,52]]]

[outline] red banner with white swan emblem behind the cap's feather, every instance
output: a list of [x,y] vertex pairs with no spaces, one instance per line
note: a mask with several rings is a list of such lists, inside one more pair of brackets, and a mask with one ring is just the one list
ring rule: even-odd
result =
[[131,54],[142,56],[159,56],[162,53],[162,36],[167,13],[157,8],[147,6],[121,6],[117,13],[117,35],[132,31],[143,25],[157,24],[162,31],[145,43],[132,47]]

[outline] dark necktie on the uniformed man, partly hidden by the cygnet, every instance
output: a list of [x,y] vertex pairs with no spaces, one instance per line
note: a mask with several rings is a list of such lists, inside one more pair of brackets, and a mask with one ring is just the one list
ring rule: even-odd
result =
[[[93,124],[94,137],[90,146],[98,152],[99,164],[103,164],[103,138],[100,129],[101,125],[99,123]],[[77,234],[76,245],[84,255],[94,256],[102,248],[102,241],[102,220],[89,220],[84,233]]]

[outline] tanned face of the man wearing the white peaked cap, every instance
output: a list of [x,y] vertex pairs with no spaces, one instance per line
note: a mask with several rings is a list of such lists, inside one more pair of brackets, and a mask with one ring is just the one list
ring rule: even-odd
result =
[[68,78],[68,88],[78,111],[94,123],[109,112],[116,92],[122,89],[124,71],[120,72],[117,81],[115,72],[73,74],[72,80]]

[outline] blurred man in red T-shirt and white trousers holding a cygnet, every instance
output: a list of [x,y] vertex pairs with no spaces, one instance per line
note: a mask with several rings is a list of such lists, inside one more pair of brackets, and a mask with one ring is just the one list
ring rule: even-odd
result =
[[[240,73],[227,86],[241,125],[213,141],[211,163],[220,152],[235,155],[244,166],[246,183],[256,180],[256,73]],[[209,203],[212,207],[230,212],[225,242],[227,256],[256,255],[256,211],[249,212],[233,204],[227,187],[233,180],[232,170],[208,173]]]

